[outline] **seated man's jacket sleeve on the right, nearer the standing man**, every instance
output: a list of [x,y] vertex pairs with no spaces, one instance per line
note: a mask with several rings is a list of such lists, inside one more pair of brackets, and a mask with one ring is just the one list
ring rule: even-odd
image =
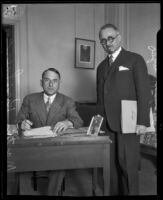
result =
[[75,102],[71,99],[67,103],[67,119],[73,123],[75,128],[80,128],[83,125],[83,120],[76,111]]

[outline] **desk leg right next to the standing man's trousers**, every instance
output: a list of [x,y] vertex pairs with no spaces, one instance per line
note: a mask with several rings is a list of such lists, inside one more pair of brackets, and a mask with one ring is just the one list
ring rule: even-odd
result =
[[110,195],[110,145],[104,147],[103,178],[104,196]]

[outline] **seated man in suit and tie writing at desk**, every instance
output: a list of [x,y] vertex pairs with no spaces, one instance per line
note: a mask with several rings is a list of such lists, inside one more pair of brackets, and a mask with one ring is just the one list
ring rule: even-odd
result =
[[[76,111],[74,101],[58,92],[60,73],[49,68],[42,73],[40,81],[43,92],[27,95],[17,116],[17,123],[22,131],[31,128],[51,126],[58,135],[70,127],[79,128],[83,121]],[[48,172],[48,195],[58,195],[65,172]],[[34,195],[31,184],[32,172],[20,173],[20,194]]]

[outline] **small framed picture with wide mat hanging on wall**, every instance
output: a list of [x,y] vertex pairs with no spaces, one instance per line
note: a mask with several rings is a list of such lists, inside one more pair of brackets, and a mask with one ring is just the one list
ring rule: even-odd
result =
[[75,38],[75,68],[94,69],[95,41]]

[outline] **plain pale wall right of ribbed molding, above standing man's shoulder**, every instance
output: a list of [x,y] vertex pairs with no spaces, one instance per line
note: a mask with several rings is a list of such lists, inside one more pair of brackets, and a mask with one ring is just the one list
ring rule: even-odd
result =
[[149,46],[157,48],[157,32],[160,30],[160,4],[129,4],[129,50],[143,55],[148,72],[156,76]]

